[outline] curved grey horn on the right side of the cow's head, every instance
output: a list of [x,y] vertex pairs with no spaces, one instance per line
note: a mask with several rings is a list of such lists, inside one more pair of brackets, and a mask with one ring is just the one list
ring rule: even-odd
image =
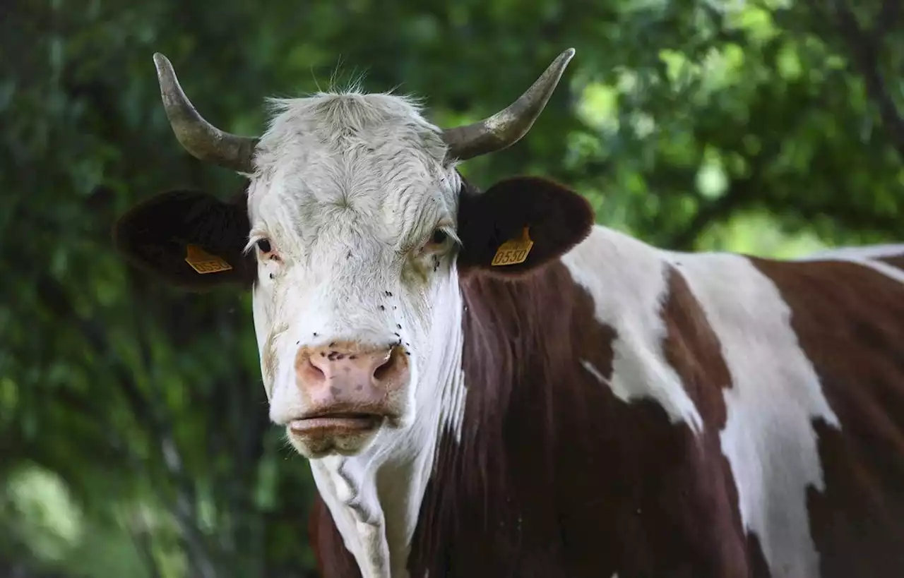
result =
[[492,117],[472,125],[444,130],[443,140],[448,145],[449,157],[464,161],[480,154],[501,151],[521,140],[531,130],[533,121],[540,116],[543,107],[546,107],[552,91],[559,84],[562,72],[573,56],[573,48],[562,52],[530,89]]

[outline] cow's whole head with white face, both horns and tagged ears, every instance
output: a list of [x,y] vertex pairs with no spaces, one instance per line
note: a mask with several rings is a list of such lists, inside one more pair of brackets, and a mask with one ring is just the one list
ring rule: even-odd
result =
[[[195,191],[146,200],[119,219],[118,248],[184,288],[253,292],[270,417],[307,457],[362,452],[418,423],[435,429],[428,408],[460,380],[460,276],[524,274],[592,224],[588,203],[552,182],[481,193],[456,170],[525,135],[573,54],[474,125],[441,130],[399,96],[319,93],[272,100],[259,138],[207,123],[157,54],[179,141],[249,183],[230,201]],[[529,251],[494,264],[504,242],[527,238]]]

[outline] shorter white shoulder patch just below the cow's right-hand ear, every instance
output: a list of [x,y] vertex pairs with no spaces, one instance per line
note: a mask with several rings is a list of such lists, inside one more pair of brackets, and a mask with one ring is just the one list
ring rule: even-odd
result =
[[591,375],[621,400],[655,399],[673,423],[690,424],[696,433],[703,422],[682,380],[662,350],[664,297],[668,291],[666,261],[641,241],[608,228],[594,227],[588,238],[562,256],[574,281],[593,297],[596,318],[617,331],[612,344],[612,378],[586,361]]

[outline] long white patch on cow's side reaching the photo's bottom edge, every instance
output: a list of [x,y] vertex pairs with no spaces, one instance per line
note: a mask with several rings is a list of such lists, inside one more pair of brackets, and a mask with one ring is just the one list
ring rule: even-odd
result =
[[731,374],[720,439],[744,528],[759,537],[773,575],[812,578],[819,554],[806,492],[824,490],[812,421],[841,425],[791,327],[792,312],[747,257],[664,255],[700,303]]

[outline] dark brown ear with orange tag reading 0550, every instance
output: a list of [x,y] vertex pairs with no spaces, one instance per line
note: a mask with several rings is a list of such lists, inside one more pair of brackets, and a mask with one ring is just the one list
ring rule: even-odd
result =
[[586,238],[594,214],[588,200],[540,177],[497,182],[458,200],[458,270],[521,275]]

